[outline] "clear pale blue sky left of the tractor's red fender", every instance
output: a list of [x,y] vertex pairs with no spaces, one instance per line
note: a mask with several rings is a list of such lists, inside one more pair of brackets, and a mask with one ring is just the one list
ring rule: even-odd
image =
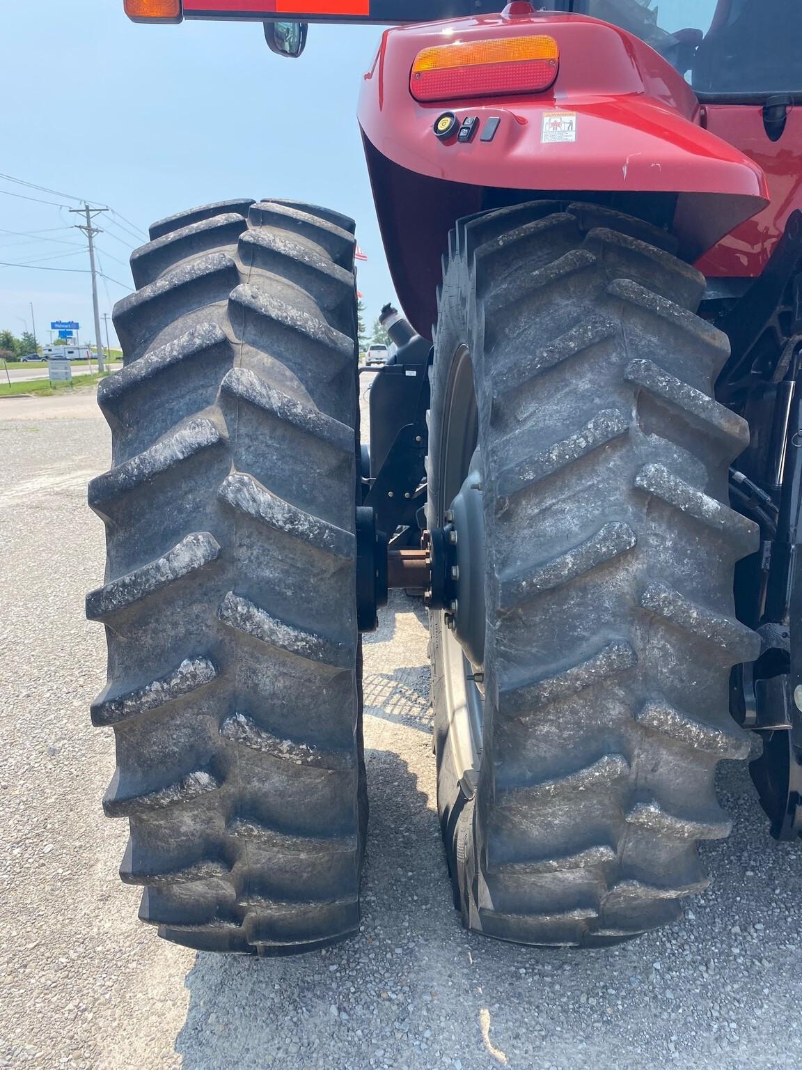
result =
[[[357,220],[369,258],[359,289],[372,320],[392,287],[356,102],[380,35],[379,27],[312,26],[304,56],[287,60],[268,50],[258,25],[135,26],[122,0],[4,3],[0,171],[108,204],[143,231],[161,216],[229,197],[326,204]],[[77,219],[12,193],[77,207],[0,179],[0,261],[59,256],[36,266],[87,269],[86,251],[63,244],[82,235],[55,229]],[[110,218],[98,221],[102,265],[129,284],[127,258],[138,242],[119,216]],[[47,233],[19,233],[34,231]],[[125,292],[102,282],[101,311]],[[81,340],[94,340],[88,274],[0,266],[0,328],[21,333],[30,302],[40,340],[56,319],[79,320]]]

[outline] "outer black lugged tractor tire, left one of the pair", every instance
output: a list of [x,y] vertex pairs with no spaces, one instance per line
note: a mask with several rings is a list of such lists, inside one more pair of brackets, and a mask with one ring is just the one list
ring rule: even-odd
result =
[[354,226],[247,200],[155,224],[105,380],[104,799],[142,920],[287,954],[359,923]]

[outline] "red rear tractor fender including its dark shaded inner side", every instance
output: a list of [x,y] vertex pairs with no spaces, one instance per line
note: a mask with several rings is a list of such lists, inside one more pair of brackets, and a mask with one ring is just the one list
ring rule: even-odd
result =
[[[406,315],[425,335],[439,258],[460,215],[544,194],[608,193],[627,210],[638,199],[668,202],[680,253],[693,261],[768,202],[761,169],[705,129],[691,87],[648,45],[598,19],[519,15],[516,6],[386,30],[364,77],[359,124],[385,247]],[[559,47],[545,92],[415,100],[411,75],[421,49],[530,34],[549,34]],[[435,135],[449,111],[458,128],[476,117],[469,140],[457,129]]]

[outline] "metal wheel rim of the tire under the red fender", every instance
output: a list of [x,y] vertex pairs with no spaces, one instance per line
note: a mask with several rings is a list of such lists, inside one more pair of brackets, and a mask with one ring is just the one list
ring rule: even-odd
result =
[[[468,585],[474,591],[480,585],[483,593],[484,552],[483,520],[481,519],[481,455],[478,449],[479,418],[474,389],[471,354],[461,346],[454,354],[446,387],[443,412],[443,446],[439,456],[439,500],[436,503],[437,521],[447,523],[452,516],[458,534],[457,561],[460,579],[457,582],[458,606],[453,628],[446,624],[447,614],[439,613],[443,635],[443,670],[449,709],[449,729],[453,733],[459,764],[468,776],[478,770],[482,750],[482,719],[484,707],[484,666],[482,660],[471,660],[467,652],[477,657],[483,646],[484,612],[481,599],[481,620],[475,620],[476,597],[466,599]],[[478,531],[477,529],[480,529]],[[468,531],[473,537],[468,540]],[[462,535],[462,541],[459,536]],[[469,545],[466,542],[469,541]],[[460,598],[460,595],[463,595]],[[463,601],[462,621],[459,602]],[[450,614],[449,614],[450,615]],[[472,628],[473,625],[473,628]],[[482,629],[479,644],[476,629]]]

